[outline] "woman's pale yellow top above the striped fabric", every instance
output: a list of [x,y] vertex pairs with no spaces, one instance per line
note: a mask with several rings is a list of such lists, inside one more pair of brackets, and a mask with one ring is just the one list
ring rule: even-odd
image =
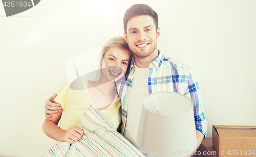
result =
[[[86,87],[88,82],[86,81]],[[59,127],[63,130],[68,130],[71,126],[77,126],[80,122],[80,117],[90,106],[91,100],[86,90],[72,90],[66,81],[58,91],[55,102],[61,104],[63,109],[61,119],[58,123]],[[114,101],[111,105],[100,112],[106,119],[110,120],[117,129],[121,122],[120,114],[120,100],[116,94]]]

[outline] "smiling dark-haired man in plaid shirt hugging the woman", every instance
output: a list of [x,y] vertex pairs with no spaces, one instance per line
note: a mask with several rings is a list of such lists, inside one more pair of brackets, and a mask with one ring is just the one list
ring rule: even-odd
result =
[[[158,27],[158,15],[151,7],[133,5],[126,10],[123,24],[124,38],[133,51],[134,58],[130,73],[118,85],[122,106],[121,134],[138,148],[136,138],[143,99],[154,92],[178,92],[188,96],[193,102],[197,149],[206,137],[206,120],[194,72],[186,65],[165,57],[157,49],[161,31]],[[48,114],[57,112],[50,111],[56,110],[55,107],[50,107],[55,106],[51,103],[54,96],[46,101]],[[49,117],[47,114],[46,116]]]

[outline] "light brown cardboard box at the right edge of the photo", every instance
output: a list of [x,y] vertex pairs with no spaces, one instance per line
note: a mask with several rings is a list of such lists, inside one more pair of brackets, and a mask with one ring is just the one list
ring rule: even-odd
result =
[[256,156],[256,126],[212,125],[217,156]]

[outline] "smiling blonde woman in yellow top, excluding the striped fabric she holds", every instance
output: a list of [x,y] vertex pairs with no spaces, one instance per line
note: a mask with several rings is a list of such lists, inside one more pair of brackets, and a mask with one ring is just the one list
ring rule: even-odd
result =
[[46,118],[42,125],[42,130],[48,137],[59,142],[77,141],[82,136],[82,129],[77,125],[81,115],[91,103],[114,124],[116,129],[119,126],[120,100],[116,93],[115,82],[109,80],[121,79],[122,73],[125,73],[129,66],[132,53],[123,37],[110,39],[101,52],[104,61],[100,62],[102,70],[94,82],[85,82],[86,90],[72,90],[68,82],[59,89],[54,101],[61,104],[62,110],[52,115],[52,118]]

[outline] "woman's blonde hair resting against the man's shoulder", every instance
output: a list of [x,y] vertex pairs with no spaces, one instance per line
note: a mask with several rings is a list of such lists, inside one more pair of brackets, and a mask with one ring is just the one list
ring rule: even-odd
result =
[[[130,62],[131,62],[131,59],[133,57],[133,53],[130,50],[130,48],[128,46],[128,43],[125,41],[125,39],[123,37],[111,38],[108,42],[105,43],[105,45],[101,49],[102,57],[100,55],[100,62],[99,62],[99,69],[100,70],[98,70],[98,72],[97,72],[96,79],[93,81],[94,83],[98,83],[101,80],[101,77],[102,77],[101,63],[103,61],[103,57],[104,57],[106,51],[108,51],[110,47],[118,47],[120,49],[128,50],[129,54],[130,54]],[[129,62],[129,64],[130,64],[130,62]]]

